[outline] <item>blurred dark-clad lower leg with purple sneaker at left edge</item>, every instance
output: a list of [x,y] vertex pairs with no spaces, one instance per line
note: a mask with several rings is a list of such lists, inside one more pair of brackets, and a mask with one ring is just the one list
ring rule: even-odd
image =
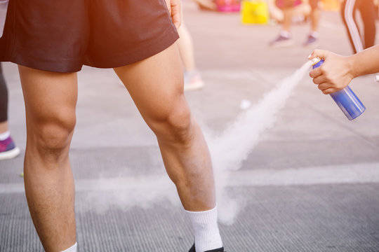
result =
[[0,63],[0,160],[15,158],[20,149],[15,146],[8,129],[8,88]]

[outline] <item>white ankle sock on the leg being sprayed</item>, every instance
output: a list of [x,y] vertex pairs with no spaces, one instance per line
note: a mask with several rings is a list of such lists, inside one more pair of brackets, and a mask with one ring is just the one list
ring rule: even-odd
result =
[[196,252],[204,252],[222,247],[218,230],[217,207],[208,211],[187,211],[194,229]]

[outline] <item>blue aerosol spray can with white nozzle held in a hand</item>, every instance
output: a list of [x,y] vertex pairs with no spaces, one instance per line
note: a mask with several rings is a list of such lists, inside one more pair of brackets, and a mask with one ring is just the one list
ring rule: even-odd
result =
[[[321,66],[323,63],[324,59],[320,59],[319,57],[312,59],[313,69]],[[364,104],[361,103],[357,95],[352,92],[349,86],[345,87],[343,90],[333,92],[330,95],[349,120],[357,118],[361,113],[364,113],[366,109]]]

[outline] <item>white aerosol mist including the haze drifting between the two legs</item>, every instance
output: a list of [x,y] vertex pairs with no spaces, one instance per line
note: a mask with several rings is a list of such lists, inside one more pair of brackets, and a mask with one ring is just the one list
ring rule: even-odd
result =
[[[241,168],[242,162],[260,141],[262,133],[275,123],[279,111],[309,68],[310,62],[307,62],[265,94],[257,104],[251,106],[249,103],[247,106],[247,102],[244,102],[244,111],[222,134],[214,137],[209,129],[205,130],[213,159],[219,218],[222,223],[233,223],[244,207],[243,199],[232,197],[227,192],[230,175]],[[88,204],[82,203],[81,210],[93,207],[98,211],[106,211],[109,207],[152,207],[162,201],[180,204],[175,186],[163,170],[162,174],[156,176],[77,181],[77,190],[88,192]]]

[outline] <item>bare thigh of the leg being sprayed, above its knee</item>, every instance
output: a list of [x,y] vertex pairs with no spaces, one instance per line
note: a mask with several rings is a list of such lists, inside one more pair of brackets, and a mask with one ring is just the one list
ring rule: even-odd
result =
[[176,43],[157,55],[114,71],[148,124],[150,120],[165,119],[174,109],[187,108]]

